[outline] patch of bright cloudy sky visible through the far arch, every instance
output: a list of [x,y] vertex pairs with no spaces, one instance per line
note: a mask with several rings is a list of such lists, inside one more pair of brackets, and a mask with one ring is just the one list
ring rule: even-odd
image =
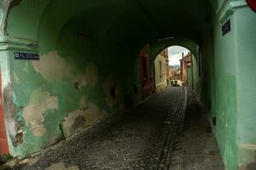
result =
[[180,65],[179,59],[182,59],[182,53],[188,54],[189,50],[181,46],[172,46],[168,48],[169,65]]

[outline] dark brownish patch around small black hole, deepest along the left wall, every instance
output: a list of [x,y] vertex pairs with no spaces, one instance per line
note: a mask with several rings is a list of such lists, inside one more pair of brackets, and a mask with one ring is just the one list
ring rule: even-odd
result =
[[[113,74],[108,74],[105,79],[105,82],[102,84],[104,89],[104,93],[106,95],[105,100],[107,101],[108,105],[112,107],[122,95],[122,89],[119,84],[116,84],[113,78]],[[115,88],[115,96],[111,95],[112,88]]]

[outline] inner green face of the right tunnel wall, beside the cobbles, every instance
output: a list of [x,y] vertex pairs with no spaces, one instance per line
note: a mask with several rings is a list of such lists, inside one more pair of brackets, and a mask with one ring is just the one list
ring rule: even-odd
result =
[[[230,20],[232,23],[232,16]],[[207,55],[208,58],[204,58],[206,65],[203,71],[205,73],[203,91],[206,93],[204,102],[211,113],[211,119],[215,116],[217,119],[215,130],[224,164],[227,169],[233,170],[236,169],[237,163],[236,67],[234,67],[236,60],[234,59],[235,51],[233,50],[236,47],[235,32],[230,31],[223,37],[221,26],[222,23],[215,20],[214,58],[212,55]],[[207,42],[207,45],[211,47],[211,43]]]

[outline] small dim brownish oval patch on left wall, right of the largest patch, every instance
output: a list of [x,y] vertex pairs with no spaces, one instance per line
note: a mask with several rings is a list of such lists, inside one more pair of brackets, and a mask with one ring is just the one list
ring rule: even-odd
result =
[[98,81],[98,68],[94,63],[87,65],[85,80],[90,85],[94,85]]

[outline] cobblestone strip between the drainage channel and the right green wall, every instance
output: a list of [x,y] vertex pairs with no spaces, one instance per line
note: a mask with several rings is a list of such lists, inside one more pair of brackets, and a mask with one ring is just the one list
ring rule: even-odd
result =
[[172,150],[172,170],[224,170],[207,114],[192,90],[185,115],[185,130],[177,136]]

